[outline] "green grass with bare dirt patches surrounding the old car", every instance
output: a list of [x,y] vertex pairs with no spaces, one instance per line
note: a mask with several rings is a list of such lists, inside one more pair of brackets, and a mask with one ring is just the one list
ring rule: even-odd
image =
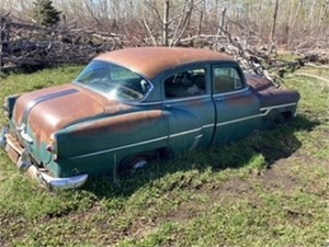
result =
[[[68,82],[80,70],[10,75],[0,100]],[[303,72],[329,77],[326,69]],[[302,94],[292,122],[81,190],[41,188],[0,150],[0,245],[328,245],[329,86],[291,76],[286,87]]]

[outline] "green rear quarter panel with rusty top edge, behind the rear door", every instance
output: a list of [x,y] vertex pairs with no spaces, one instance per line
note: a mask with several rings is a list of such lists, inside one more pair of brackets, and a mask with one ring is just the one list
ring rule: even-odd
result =
[[56,176],[111,175],[127,156],[168,145],[168,114],[138,111],[79,123],[56,133]]

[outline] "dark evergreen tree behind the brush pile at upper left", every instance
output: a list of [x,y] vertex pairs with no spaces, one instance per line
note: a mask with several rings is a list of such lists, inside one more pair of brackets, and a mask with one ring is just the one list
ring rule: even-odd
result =
[[61,12],[53,7],[52,0],[36,0],[33,4],[33,20],[37,24],[48,27],[59,22]]

